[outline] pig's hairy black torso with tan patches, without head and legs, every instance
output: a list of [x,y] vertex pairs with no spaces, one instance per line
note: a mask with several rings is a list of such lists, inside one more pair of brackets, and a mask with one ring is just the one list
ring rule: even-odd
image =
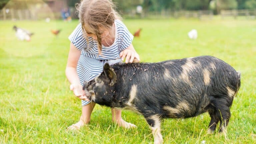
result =
[[[124,87],[137,88],[135,105],[152,106],[166,117],[193,117],[207,110],[216,98],[233,98],[240,80],[237,72],[212,56],[168,60],[158,63],[118,64],[113,67]],[[170,111],[179,113],[170,114]]]

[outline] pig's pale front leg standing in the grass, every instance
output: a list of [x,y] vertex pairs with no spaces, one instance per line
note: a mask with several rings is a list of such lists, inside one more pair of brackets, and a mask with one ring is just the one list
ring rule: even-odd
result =
[[154,144],[162,144],[163,143],[163,137],[161,134],[161,118],[159,115],[151,115],[145,117],[151,130],[152,134],[154,136]]

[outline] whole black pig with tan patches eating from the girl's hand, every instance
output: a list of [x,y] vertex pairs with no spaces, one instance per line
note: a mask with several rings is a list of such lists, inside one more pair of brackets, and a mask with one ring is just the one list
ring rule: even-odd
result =
[[154,137],[163,142],[163,118],[190,118],[208,112],[208,133],[218,122],[226,135],[230,107],[240,88],[240,72],[212,56],[157,63],[106,63],[103,72],[83,83],[89,100],[130,109],[144,116]]

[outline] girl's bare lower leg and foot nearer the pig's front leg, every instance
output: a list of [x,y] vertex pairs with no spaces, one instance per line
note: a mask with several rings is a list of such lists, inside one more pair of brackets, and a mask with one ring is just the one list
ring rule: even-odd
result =
[[112,112],[112,121],[116,122],[118,126],[121,126],[124,128],[136,127],[136,125],[128,123],[122,119],[122,110],[112,108],[111,112]]

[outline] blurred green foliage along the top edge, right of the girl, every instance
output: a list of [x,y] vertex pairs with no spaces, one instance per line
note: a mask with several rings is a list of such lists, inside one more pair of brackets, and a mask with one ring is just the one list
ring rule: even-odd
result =
[[[211,0],[114,0],[120,6],[121,11],[135,8],[136,5],[143,4],[145,11],[162,10],[208,10]],[[255,8],[256,0],[213,0],[215,1],[214,10],[236,9],[236,8]],[[213,2],[214,3],[214,2]]]

